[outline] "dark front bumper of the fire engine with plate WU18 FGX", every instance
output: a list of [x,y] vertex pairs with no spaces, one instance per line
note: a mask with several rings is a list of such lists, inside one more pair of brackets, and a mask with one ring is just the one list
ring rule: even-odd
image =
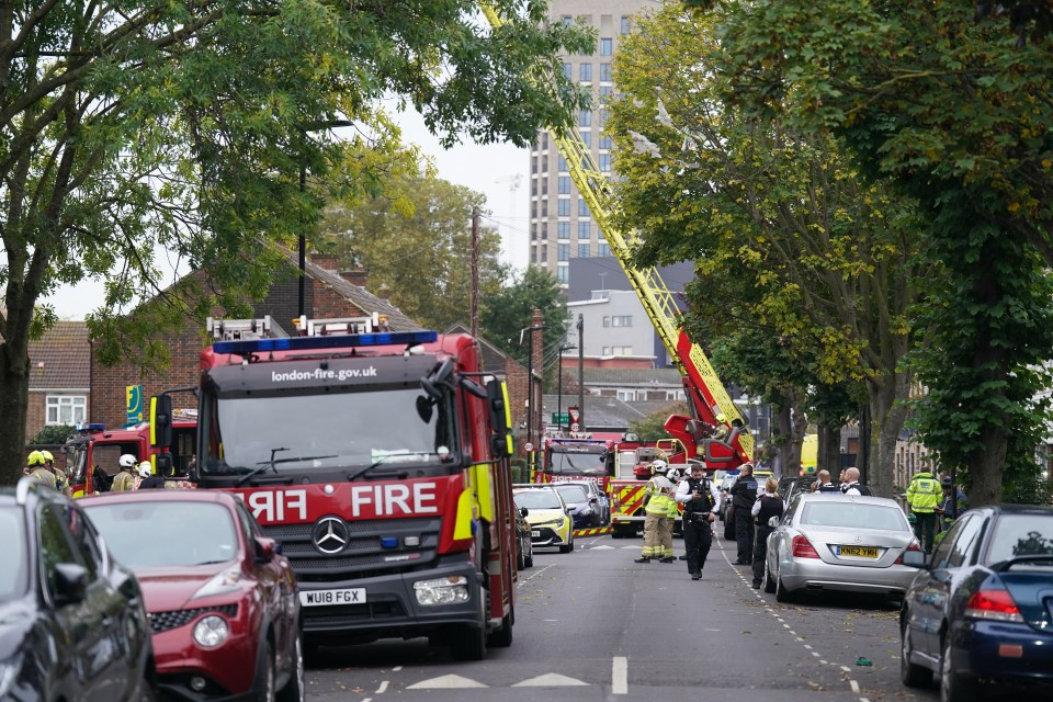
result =
[[[414,584],[418,580],[463,576],[468,599],[453,604],[418,603]],[[344,643],[378,638],[414,638],[435,633],[446,624],[484,626],[482,589],[474,565],[466,559],[440,562],[434,568],[331,582],[301,582],[301,592],[363,588],[365,602],[302,607],[304,633],[315,641]]]

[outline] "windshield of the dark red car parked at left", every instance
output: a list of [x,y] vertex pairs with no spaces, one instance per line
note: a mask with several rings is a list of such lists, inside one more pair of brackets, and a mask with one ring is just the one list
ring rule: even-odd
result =
[[238,553],[234,517],[223,505],[137,500],[84,507],[113,557],[133,570],[224,563]]

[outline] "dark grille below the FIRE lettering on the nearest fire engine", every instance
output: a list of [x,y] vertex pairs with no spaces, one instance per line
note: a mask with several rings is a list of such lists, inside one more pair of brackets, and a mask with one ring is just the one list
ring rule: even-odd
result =
[[[438,557],[442,520],[390,519],[347,522],[348,543],[337,553],[322,553],[312,540],[314,524],[264,526],[263,532],[281,542],[303,582],[326,582],[412,570]],[[408,545],[407,540],[410,544]],[[330,608],[326,608],[330,609]]]

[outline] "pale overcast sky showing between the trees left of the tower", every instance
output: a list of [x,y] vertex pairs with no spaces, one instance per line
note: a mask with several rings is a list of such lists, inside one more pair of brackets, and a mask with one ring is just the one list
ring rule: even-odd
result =
[[[486,195],[489,217],[484,226],[497,227],[501,233],[502,259],[523,269],[528,258],[528,225],[530,189],[529,156],[525,149],[510,144],[480,146],[466,143],[450,150],[443,149],[424,126],[417,113],[399,117],[403,140],[415,143],[435,163],[438,176],[458,185],[466,185]],[[513,190],[517,183],[518,189]],[[465,220],[465,227],[471,223]],[[161,262],[159,258],[158,262]],[[102,304],[101,283],[83,282],[66,287],[48,302],[55,305],[60,318],[82,319],[86,314]]]

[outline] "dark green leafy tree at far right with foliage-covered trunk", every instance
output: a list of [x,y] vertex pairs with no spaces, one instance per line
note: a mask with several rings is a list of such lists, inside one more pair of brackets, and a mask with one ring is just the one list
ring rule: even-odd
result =
[[[725,2],[726,98],[845,140],[931,223],[919,435],[974,505],[1033,472],[1053,355],[1053,38],[1043,2]],[[1030,12],[1028,9],[1041,12]],[[1030,36],[1031,41],[1021,41]],[[792,100],[788,100],[792,98]]]

